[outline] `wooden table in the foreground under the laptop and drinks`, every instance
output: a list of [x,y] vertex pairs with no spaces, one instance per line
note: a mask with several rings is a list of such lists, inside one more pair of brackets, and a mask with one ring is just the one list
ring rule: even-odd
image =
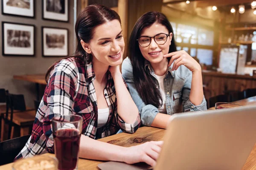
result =
[[[113,136],[108,136],[103,139],[99,139],[99,141],[108,142],[111,144],[116,144],[119,146],[130,147],[137,144],[141,144],[148,141],[159,141],[163,140],[164,129],[159,129],[155,127],[140,127],[136,133],[119,133]],[[47,155],[52,155],[47,153]],[[88,159],[79,159],[78,169],[79,170],[99,170],[97,165],[102,163],[102,161],[93,161]],[[0,166],[0,170],[11,170],[12,164],[6,164]],[[255,170],[256,169],[256,145],[253,147],[250,156],[248,157],[246,163],[244,164],[243,170]]]

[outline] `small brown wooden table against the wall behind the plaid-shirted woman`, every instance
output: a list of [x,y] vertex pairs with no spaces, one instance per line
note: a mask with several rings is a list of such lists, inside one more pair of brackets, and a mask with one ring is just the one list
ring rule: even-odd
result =
[[37,94],[37,100],[40,100],[39,85],[47,85],[45,81],[45,74],[27,74],[27,75],[14,75],[14,79],[34,82]]

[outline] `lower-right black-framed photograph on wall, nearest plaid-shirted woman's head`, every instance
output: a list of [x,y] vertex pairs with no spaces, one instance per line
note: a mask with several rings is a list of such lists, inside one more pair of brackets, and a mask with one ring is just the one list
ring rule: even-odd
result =
[[66,57],[68,55],[68,29],[42,27],[42,55]]

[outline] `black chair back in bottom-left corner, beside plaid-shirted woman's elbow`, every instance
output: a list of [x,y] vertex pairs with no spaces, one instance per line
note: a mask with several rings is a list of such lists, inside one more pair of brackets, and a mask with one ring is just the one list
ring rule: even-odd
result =
[[9,139],[0,143],[0,165],[12,163],[25,146],[30,135]]

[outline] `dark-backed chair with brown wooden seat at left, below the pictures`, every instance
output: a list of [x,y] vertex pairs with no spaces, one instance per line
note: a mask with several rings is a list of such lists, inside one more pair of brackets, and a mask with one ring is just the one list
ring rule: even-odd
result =
[[[14,112],[14,110],[18,112]],[[9,125],[7,139],[13,138],[14,127],[20,127],[20,136],[24,136],[29,134],[29,127],[32,127],[35,121],[35,110],[26,111],[25,100],[22,94],[7,94],[6,114],[3,119],[4,123]],[[4,126],[2,127],[2,132],[4,132]]]

